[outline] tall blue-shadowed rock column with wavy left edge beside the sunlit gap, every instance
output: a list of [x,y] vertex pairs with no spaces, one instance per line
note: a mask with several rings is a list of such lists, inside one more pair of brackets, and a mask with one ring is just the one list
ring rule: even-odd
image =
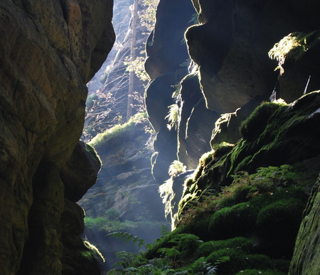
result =
[[[173,93],[178,82],[188,74],[188,52],[184,32],[195,14],[191,1],[161,0],[156,11],[154,31],[146,41],[145,69],[151,77],[145,102],[149,120],[157,132],[152,171],[158,183],[169,178],[168,168],[176,160],[177,134],[169,131],[168,107],[175,104]],[[196,102],[194,102],[196,104]]]

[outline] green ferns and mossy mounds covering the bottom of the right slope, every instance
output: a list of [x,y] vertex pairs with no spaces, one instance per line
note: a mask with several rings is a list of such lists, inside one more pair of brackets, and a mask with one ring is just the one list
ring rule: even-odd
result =
[[118,252],[120,261],[107,274],[287,274],[289,257],[259,253],[257,240],[279,245],[282,253],[283,239],[287,241],[288,232],[294,237],[299,227],[304,203],[306,194],[291,166],[237,173],[218,194],[207,190],[193,200],[176,230],[163,230],[154,244],[116,233],[146,252]]

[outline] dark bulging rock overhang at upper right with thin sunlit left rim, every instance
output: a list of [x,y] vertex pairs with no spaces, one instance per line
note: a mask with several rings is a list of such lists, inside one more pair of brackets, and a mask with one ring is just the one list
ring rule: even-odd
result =
[[314,12],[309,17],[299,11],[319,9],[314,1],[193,2],[201,24],[186,32],[188,51],[200,67],[208,108],[220,114],[257,95],[269,97],[277,82],[276,65],[267,56],[274,43],[293,31],[319,28]]

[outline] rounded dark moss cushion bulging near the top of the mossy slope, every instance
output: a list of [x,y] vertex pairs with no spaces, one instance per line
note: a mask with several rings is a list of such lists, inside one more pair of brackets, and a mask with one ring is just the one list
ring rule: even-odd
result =
[[252,141],[257,136],[260,136],[272,114],[284,105],[286,104],[283,102],[265,102],[258,106],[239,127],[242,139]]

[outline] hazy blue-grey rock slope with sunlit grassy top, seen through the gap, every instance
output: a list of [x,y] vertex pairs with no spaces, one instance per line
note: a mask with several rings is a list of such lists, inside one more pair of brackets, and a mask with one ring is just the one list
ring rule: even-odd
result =
[[107,234],[129,232],[152,243],[160,237],[161,225],[167,224],[159,184],[151,173],[153,138],[148,120],[140,117],[114,126],[90,142],[103,165],[97,183],[79,201],[86,213],[82,237],[102,252],[105,271],[119,261],[115,252],[139,250],[132,242]]

